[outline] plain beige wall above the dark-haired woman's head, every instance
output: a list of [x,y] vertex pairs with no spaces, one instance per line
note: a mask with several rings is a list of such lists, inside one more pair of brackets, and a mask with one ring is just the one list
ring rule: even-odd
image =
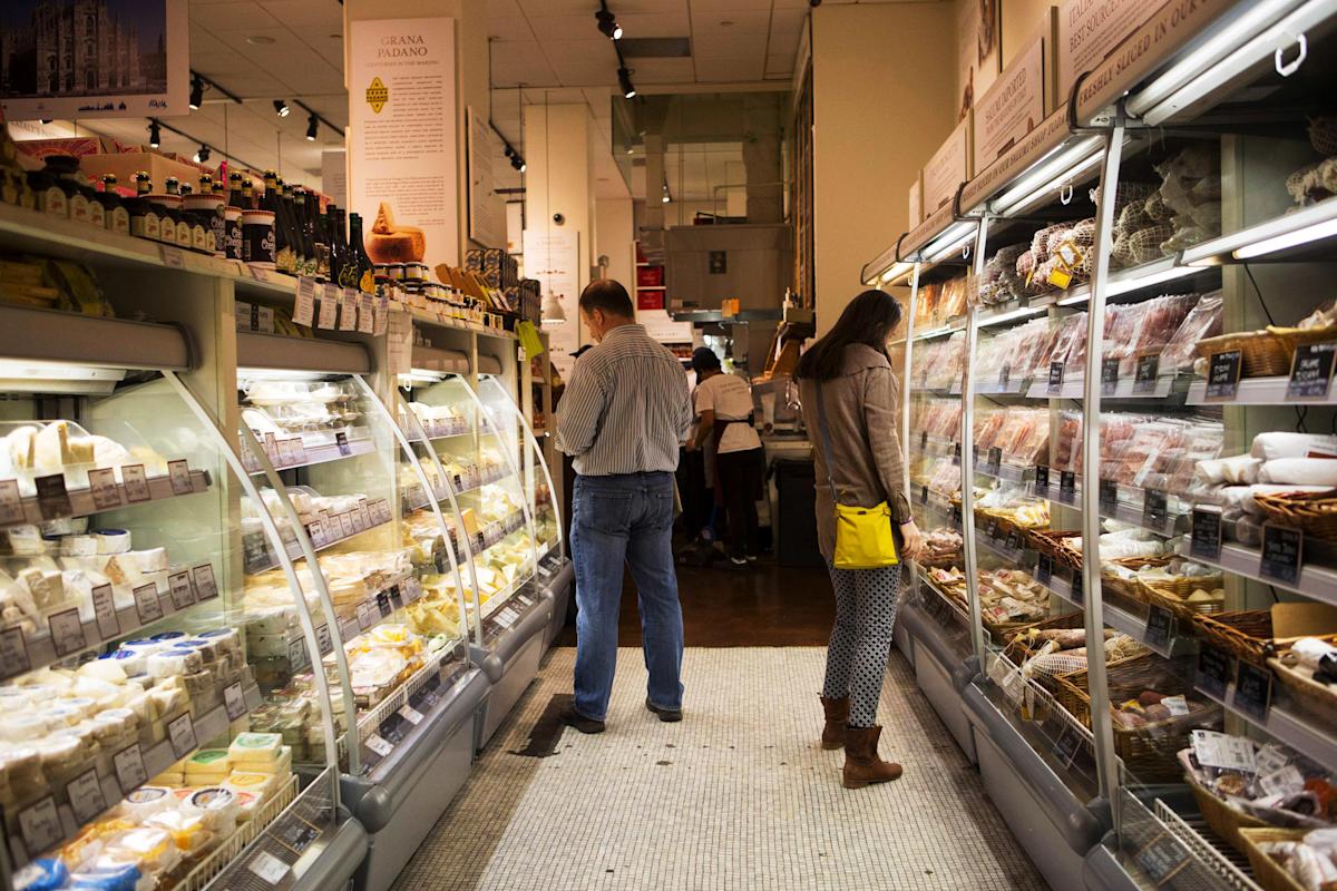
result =
[[908,192],[956,123],[949,3],[813,11],[817,325],[862,290],[858,271],[906,230]]

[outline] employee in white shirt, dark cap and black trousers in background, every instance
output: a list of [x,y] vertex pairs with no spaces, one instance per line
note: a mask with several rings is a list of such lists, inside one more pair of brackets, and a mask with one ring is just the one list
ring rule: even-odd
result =
[[699,422],[690,446],[701,449],[715,437],[715,501],[727,516],[729,560],[746,566],[761,550],[757,501],[762,496],[765,458],[761,437],[753,426],[751,386],[734,374],[723,374],[710,347],[691,354],[697,373],[695,409]]

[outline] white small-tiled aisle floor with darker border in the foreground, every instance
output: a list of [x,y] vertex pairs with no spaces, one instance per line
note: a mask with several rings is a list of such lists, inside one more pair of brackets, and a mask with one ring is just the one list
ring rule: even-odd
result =
[[623,649],[606,733],[512,755],[571,691],[574,653],[552,652],[397,890],[1044,887],[898,653],[881,751],[905,776],[860,791],[816,744],[820,648],[689,649],[681,724],[644,711],[640,653]]

